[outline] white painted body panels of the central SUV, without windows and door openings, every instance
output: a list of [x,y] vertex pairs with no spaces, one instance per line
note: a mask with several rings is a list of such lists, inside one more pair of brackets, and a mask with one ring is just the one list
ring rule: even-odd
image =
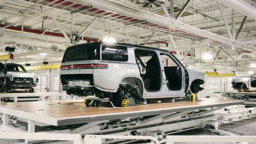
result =
[[[110,45],[109,43],[102,43],[103,44]],[[170,54],[166,50],[161,49],[148,49],[148,48],[142,48],[136,45],[127,45],[127,44],[113,44],[113,45],[123,45],[127,46],[128,50],[128,61],[120,62],[120,61],[106,61],[101,60],[101,54],[100,54],[100,60],[84,60],[84,61],[72,61],[72,62],[62,62],[61,66],[65,65],[77,65],[77,64],[108,64],[107,69],[61,69],[60,75],[72,75],[72,74],[91,74],[93,73],[94,78],[94,86],[87,85],[86,82],[69,82],[68,86],[74,87],[77,86],[78,83],[81,87],[95,87],[98,90],[106,91],[106,92],[117,92],[118,87],[120,84],[129,84],[133,83],[133,79],[139,79],[140,84],[142,84],[142,88],[139,88],[138,90],[139,95],[143,96],[143,99],[152,99],[152,98],[173,98],[173,97],[184,97],[185,94],[189,91],[189,87],[191,86],[191,83],[193,80],[200,79],[204,80],[204,74],[202,72],[198,71],[192,71],[192,70],[186,70],[184,66],[181,64],[180,61],[177,60],[172,54]],[[161,61],[160,53],[166,54],[172,58],[173,61],[175,61],[178,66],[181,68],[182,71],[182,88],[179,91],[172,91],[169,90],[166,85],[166,77],[164,72],[164,65],[162,62],[160,62],[161,65],[161,88],[159,91],[151,92],[147,91],[144,88],[144,83],[142,80],[142,77],[140,76],[140,72],[138,69],[138,65],[136,64],[136,58],[135,58],[135,49],[144,49],[144,50],[151,50],[157,53],[159,61]],[[101,48],[100,48],[101,51]],[[188,72],[189,75],[189,86],[185,86],[185,71]],[[131,79],[131,80],[129,80]],[[74,85],[74,83],[76,83]]]

